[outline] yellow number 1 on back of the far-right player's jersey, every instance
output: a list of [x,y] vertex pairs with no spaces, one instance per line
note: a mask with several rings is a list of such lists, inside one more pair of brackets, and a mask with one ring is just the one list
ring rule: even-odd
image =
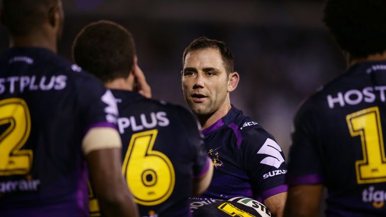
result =
[[358,184],[386,181],[382,128],[378,107],[370,107],[346,116],[352,137],[360,136],[363,160],[355,162]]

